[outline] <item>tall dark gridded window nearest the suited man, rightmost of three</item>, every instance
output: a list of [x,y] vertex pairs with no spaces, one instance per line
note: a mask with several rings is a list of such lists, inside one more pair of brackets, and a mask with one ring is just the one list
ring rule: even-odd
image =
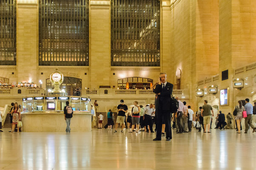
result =
[[111,65],[160,65],[160,1],[111,0]]

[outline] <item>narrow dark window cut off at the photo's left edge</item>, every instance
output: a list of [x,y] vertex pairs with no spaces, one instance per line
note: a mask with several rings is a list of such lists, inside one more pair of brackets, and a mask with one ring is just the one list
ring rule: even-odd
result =
[[0,0],[0,65],[16,65],[16,0]]

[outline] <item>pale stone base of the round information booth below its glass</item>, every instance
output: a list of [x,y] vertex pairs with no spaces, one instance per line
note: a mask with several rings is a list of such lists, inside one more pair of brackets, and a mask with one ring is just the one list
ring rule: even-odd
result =
[[[63,111],[34,111],[22,113],[23,132],[65,132]],[[71,118],[71,132],[90,132],[91,113],[74,111]]]

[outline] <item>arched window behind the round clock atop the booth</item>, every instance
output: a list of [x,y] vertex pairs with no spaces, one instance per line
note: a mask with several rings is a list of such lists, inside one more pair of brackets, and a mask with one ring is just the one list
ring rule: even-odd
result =
[[[46,90],[53,89],[54,85],[51,84],[50,79],[46,79]],[[64,89],[69,96],[76,96],[76,88],[82,88],[82,79],[75,77],[64,77],[63,83],[60,85],[60,89]]]

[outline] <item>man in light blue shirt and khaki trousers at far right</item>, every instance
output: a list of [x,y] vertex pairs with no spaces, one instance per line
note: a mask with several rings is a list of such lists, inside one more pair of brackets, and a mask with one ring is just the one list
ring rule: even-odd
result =
[[247,133],[249,129],[249,125],[253,128],[253,132],[255,132],[256,128],[253,125],[253,105],[249,103],[249,99],[245,99],[245,111],[247,113],[247,117],[245,118],[245,133]]

